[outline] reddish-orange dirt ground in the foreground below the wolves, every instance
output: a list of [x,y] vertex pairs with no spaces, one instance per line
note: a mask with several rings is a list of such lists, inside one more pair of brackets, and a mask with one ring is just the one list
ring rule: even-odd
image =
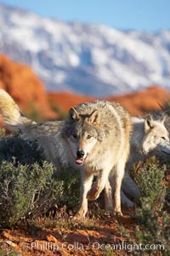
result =
[[123,210],[123,217],[119,218],[105,216],[103,219],[74,220],[57,228],[44,228],[46,220],[40,219],[39,227],[28,225],[1,230],[0,255],[127,255],[127,242],[119,226],[123,225],[133,234],[136,225],[133,216],[132,208]]

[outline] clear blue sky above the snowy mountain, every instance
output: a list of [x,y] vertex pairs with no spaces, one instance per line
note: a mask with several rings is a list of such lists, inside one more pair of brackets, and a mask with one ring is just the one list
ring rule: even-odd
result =
[[170,29],[170,0],[0,0],[46,17],[105,24],[117,29]]

